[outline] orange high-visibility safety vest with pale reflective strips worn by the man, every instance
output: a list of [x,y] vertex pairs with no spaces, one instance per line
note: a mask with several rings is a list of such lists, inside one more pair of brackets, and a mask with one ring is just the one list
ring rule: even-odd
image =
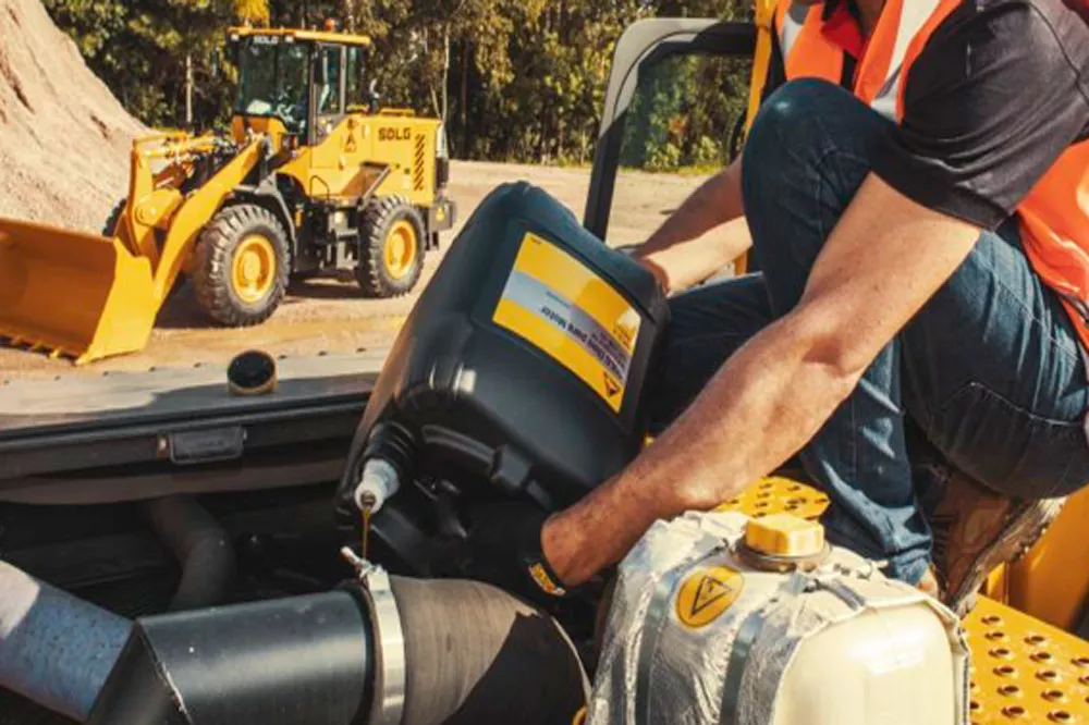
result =
[[[904,88],[927,40],[966,0],[889,0],[857,70],[855,95],[897,123]],[[775,29],[787,81],[839,84],[843,50],[821,32],[823,4],[780,0]],[[1037,274],[1061,296],[1089,349],[1089,140],[1069,147],[1017,207],[1021,244]]]

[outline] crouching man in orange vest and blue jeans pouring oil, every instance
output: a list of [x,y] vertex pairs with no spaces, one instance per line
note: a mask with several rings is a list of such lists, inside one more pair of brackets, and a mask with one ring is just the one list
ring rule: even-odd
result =
[[[796,453],[834,542],[955,609],[1029,545],[1089,481],[1076,1],[784,0],[744,158],[637,253],[673,290],[750,245],[761,273],[673,298],[669,427],[573,508],[509,518],[493,578],[562,593]],[[922,495],[909,428],[964,475]]]

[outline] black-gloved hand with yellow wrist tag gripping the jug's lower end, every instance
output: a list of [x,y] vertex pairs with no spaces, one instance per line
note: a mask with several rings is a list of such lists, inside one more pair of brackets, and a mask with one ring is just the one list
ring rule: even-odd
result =
[[541,552],[541,528],[548,514],[527,503],[481,506],[469,528],[468,575],[535,604],[567,595],[563,582]]

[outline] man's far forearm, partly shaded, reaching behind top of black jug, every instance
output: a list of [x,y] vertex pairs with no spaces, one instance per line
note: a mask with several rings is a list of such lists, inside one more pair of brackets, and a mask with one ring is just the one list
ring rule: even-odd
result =
[[751,246],[743,214],[738,158],[685,199],[635,256],[668,291],[684,290],[711,277]]

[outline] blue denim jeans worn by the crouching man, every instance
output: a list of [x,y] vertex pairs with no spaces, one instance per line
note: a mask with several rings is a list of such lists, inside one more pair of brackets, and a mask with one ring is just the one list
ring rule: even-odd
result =
[[[820,81],[787,84],[768,100],[742,174],[762,271],[671,302],[656,428],[680,415],[734,351],[797,304],[813,260],[892,131],[851,94]],[[1065,495],[1089,481],[1086,403],[1076,333],[1029,266],[1011,220],[980,235],[799,457],[831,499],[829,538],[886,560],[892,576],[915,583],[930,563],[931,537],[907,438],[921,441],[911,447],[916,471],[932,465],[937,452],[998,493]]]

